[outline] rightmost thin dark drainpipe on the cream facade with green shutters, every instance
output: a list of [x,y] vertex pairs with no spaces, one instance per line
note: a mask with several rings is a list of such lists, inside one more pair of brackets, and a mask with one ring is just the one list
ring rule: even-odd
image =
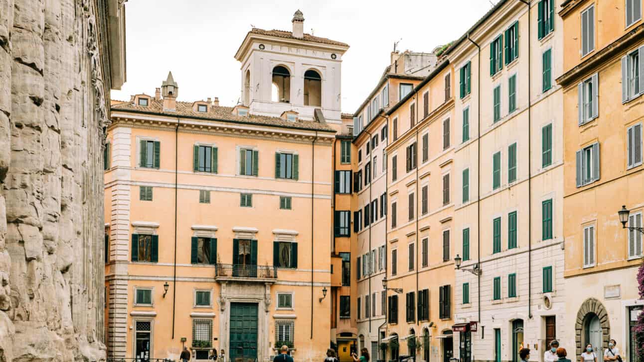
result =
[[[532,278],[532,122],[531,122],[531,82],[532,58],[530,56],[530,2],[519,0],[527,5],[527,275]],[[532,283],[527,284],[527,318],[532,319]]]

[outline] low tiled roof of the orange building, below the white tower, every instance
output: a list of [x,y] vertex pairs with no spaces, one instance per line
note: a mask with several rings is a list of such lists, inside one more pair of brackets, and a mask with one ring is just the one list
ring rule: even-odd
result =
[[209,112],[194,112],[193,102],[176,102],[176,111],[164,111],[163,100],[155,100],[150,98],[149,105],[144,107],[142,105],[135,105],[131,102],[122,104],[113,104],[112,111],[134,111],[140,113],[162,114],[164,116],[187,116],[192,118],[200,118],[203,120],[215,120],[223,122],[237,122],[237,123],[250,123],[256,125],[267,125],[271,127],[284,127],[293,129],[310,129],[311,131],[327,131],[335,132],[334,129],[329,127],[327,123],[319,123],[316,121],[298,120],[296,122],[287,121],[279,117],[258,116],[256,114],[249,114],[248,116],[236,116],[232,114],[232,107],[221,107],[209,105]]

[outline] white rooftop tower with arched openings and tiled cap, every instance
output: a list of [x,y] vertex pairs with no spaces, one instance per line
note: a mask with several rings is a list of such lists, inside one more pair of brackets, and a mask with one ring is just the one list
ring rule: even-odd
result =
[[321,109],[329,123],[341,123],[343,42],[304,33],[304,15],[293,14],[292,31],[252,28],[235,59],[242,63],[240,103],[252,114],[280,116],[294,111],[312,120]]

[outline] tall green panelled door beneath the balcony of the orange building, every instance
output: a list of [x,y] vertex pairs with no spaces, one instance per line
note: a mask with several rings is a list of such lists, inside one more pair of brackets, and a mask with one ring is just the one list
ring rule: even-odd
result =
[[231,303],[231,362],[257,358],[257,303]]

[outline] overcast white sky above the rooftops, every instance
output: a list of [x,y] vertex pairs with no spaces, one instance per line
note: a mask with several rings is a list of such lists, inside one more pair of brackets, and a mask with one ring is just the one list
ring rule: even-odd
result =
[[[126,3],[128,80],[111,97],[154,95],[167,72],[179,100],[240,97],[240,63],[234,59],[251,24],[291,30],[298,8],[304,31],[349,44],[342,64],[342,111],[353,113],[398,49],[426,51],[458,39],[492,7],[489,0],[258,1],[129,0]],[[458,14],[458,15],[457,15]]]

